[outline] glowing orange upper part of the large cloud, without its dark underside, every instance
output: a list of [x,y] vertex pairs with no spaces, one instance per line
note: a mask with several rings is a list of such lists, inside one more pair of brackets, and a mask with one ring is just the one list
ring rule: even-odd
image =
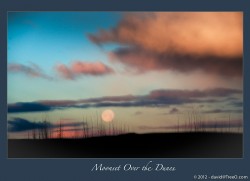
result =
[[154,52],[242,56],[240,12],[128,13],[119,25],[90,35],[96,43],[135,44]]

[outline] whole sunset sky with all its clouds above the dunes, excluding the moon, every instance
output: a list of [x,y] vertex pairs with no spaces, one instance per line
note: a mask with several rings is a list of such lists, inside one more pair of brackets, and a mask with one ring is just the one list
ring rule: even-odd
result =
[[241,130],[240,12],[9,12],[7,53],[9,138]]

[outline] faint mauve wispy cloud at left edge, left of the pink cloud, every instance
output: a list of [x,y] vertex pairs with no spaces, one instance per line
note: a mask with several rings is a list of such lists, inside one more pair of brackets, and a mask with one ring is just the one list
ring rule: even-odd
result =
[[11,63],[8,65],[8,72],[9,73],[22,73],[24,75],[27,75],[33,78],[52,79],[52,77],[43,73],[42,69],[36,64],[31,64],[30,66],[27,66],[23,64]]

